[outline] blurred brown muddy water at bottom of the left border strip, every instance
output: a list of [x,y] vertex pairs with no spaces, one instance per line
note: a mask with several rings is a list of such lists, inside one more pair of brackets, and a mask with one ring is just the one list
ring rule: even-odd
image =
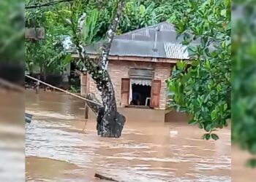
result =
[[0,181],[25,181],[23,103],[22,94],[0,88]]

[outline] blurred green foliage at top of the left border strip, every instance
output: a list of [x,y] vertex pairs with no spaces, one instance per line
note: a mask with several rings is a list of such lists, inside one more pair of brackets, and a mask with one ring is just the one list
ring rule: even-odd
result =
[[0,19],[1,61],[23,61],[23,4],[18,0],[0,1]]

